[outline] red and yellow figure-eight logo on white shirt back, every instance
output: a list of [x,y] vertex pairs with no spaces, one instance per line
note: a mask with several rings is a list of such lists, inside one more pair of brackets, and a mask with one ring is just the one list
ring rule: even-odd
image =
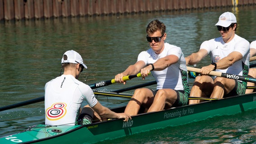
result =
[[50,108],[46,109],[46,117],[51,121],[59,120],[67,113],[66,103],[54,103]]

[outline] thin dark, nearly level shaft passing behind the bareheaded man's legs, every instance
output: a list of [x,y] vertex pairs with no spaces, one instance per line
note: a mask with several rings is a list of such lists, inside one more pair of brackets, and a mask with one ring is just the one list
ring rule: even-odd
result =
[[[94,94],[104,95],[104,96],[113,96],[113,97],[121,97],[121,98],[132,98],[133,94],[127,93],[114,93],[114,92],[106,92],[106,91],[94,91]],[[203,98],[203,97],[188,97],[188,99],[200,99],[200,100],[218,100],[215,98]]]

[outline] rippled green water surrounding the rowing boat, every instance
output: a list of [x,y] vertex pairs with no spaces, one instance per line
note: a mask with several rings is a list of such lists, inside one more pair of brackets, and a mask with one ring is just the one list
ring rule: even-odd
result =
[[[256,40],[256,6],[0,23],[0,107],[44,96],[44,85],[59,76],[61,57],[67,50],[78,51],[88,67],[81,73],[80,81],[93,84],[110,80],[149,48],[145,31],[151,20],[164,22],[166,42],[180,46],[187,56],[196,52],[204,40],[219,37],[214,25],[226,11],[236,14],[239,36],[249,42]],[[197,67],[209,63],[206,57]],[[126,85],[113,84],[98,90],[119,90],[153,80],[152,76],[144,81],[134,78]],[[193,79],[189,79],[190,86],[192,83]],[[128,102],[125,98],[105,96],[98,100],[109,108]],[[252,110],[104,143],[251,144],[256,141],[255,118],[256,111]],[[0,137],[43,121],[43,102],[0,112]]]

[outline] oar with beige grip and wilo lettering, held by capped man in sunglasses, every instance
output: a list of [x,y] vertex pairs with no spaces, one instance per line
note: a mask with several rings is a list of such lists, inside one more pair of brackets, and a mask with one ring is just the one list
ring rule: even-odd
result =
[[[191,71],[191,72],[200,72],[200,68],[195,68],[195,67],[187,67],[187,70]],[[248,82],[256,83],[255,78],[233,75],[233,74],[229,74],[229,73],[211,71],[209,73],[209,75],[210,76],[220,76],[220,77],[225,77],[225,78],[234,79],[234,80],[248,81]]]

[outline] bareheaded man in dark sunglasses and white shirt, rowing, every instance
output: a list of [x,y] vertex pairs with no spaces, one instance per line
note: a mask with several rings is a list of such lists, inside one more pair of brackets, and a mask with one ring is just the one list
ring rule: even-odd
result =
[[151,72],[157,81],[155,90],[140,88],[125,108],[125,113],[137,115],[139,110],[155,112],[163,109],[187,105],[189,87],[187,67],[180,47],[165,42],[165,24],[155,19],[146,27],[146,40],[149,49],[142,51],[137,62],[115,76],[115,81],[125,84],[123,76],[141,72],[142,79]]

